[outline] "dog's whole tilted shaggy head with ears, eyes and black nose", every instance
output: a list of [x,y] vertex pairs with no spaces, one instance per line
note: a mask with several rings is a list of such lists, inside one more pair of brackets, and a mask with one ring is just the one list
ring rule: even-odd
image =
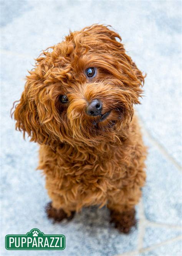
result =
[[40,144],[114,140],[131,121],[144,82],[116,38],[93,25],[43,52],[15,108],[16,127]]

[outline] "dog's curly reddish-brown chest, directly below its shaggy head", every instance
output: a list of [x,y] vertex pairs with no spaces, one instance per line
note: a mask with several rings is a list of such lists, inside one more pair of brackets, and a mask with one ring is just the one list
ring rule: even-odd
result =
[[51,187],[63,201],[77,202],[79,207],[104,205],[108,192],[117,187],[120,177],[116,174],[121,173],[121,163],[112,153],[61,147],[49,157],[50,151],[46,151],[40,167],[46,174],[48,189]]

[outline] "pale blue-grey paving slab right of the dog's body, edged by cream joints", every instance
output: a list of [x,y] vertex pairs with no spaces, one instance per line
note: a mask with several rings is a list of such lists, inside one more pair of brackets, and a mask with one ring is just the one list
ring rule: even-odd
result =
[[149,147],[147,186],[144,192],[144,211],[149,221],[181,225],[181,172],[156,147]]

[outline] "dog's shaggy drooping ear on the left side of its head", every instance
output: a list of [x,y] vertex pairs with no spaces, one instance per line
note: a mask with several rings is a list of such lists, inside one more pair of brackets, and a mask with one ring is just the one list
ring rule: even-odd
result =
[[30,141],[46,144],[49,140],[49,135],[46,133],[44,126],[40,124],[40,119],[37,110],[37,90],[38,77],[34,72],[30,72],[27,76],[25,90],[19,101],[13,104],[14,111],[12,116],[16,120],[16,129],[25,132],[31,137]]

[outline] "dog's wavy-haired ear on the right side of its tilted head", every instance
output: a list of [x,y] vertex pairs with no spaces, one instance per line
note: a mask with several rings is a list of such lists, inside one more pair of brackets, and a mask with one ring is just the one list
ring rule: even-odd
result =
[[[83,33],[93,35],[94,44],[99,45],[99,55],[103,52],[103,59],[107,58],[107,64],[110,64],[109,72],[122,82],[125,90],[130,91],[131,96],[133,96],[132,102],[139,104],[138,98],[142,94],[141,87],[144,84],[145,76],[142,75],[131,57],[126,54],[120,35],[109,27],[111,26],[96,24],[84,28]],[[94,38],[96,38],[95,41]],[[108,69],[108,65],[106,68]]]

